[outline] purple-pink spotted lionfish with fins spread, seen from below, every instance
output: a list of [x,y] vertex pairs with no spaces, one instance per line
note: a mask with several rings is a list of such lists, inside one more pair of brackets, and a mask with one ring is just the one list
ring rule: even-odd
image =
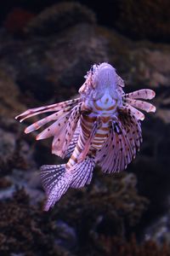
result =
[[121,172],[135,158],[142,143],[140,120],[144,113],[155,112],[149,102],[156,94],[143,89],[124,93],[124,82],[114,67],[94,64],[84,77],[80,97],[46,107],[31,108],[16,117],[24,119],[51,113],[28,126],[26,133],[54,121],[37,135],[37,140],[54,137],[52,153],[69,158],[66,164],[41,167],[42,186],[47,195],[44,207],[59,201],[69,188],[82,188],[92,180],[94,166],[103,172]]

